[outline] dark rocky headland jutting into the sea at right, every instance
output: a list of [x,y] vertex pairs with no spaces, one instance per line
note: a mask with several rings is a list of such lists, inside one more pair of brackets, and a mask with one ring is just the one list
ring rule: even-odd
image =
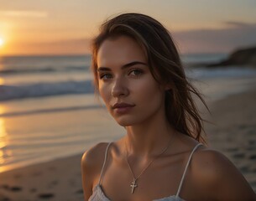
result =
[[206,67],[244,65],[256,68],[256,46],[247,49],[237,49],[227,59],[214,64],[206,64]]

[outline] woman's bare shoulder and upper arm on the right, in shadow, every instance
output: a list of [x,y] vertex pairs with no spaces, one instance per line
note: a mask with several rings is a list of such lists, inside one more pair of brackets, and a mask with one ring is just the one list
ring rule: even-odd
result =
[[216,200],[256,200],[243,174],[221,152],[201,146],[191,161],[198,188]]

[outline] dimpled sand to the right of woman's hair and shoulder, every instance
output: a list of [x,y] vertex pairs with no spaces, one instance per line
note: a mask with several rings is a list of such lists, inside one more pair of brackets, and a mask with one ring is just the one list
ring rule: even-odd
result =
[[230,95],[210,106],[209,146],[224,153],[256,193],[256,90]]

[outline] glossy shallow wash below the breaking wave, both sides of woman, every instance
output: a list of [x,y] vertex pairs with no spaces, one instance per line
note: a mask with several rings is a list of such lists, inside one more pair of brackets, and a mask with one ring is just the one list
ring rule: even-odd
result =
[[[210,106],[212,102],[222,100],[228,95],[251,90],[256,85],[255,78],[256,76],[251,75],[235,79],[220,77],[191,81]],[[3,125],[0,158],[3,164],[0,173],[76,155],[92,144],[122,136],[123,128],[117,126],[107,110],[100,105],[100,101],[98,105],[96,101],[95,95],[91,94],[51,96],[3,104],[2,111],[7,114],[23,114],[24,111],[31,114],[0,115],[0,126]],[[87,107],[95,104],[97,108]],[[84,110],[82,106],[87,109]],[[204,111],[201,102],[198,106]]]

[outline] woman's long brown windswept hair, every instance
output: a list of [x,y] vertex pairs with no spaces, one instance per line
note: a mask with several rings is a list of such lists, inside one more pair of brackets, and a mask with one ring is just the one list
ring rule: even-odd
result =
[[171,86],[171,89],[165,92],[165,114],[170,125],[198,142],[206,142],[201,135],[203,120],[192,94],[196,95],[204,106],[206,102],[186,79],[180,55],[169,31],[154,18],[140,13],[123,13],[102,23],[100,33],[92,41],[91,68],[96,90],[98,49],[104,40],[120,35],[134,39],[144,49],[154,79],[161,85]]

